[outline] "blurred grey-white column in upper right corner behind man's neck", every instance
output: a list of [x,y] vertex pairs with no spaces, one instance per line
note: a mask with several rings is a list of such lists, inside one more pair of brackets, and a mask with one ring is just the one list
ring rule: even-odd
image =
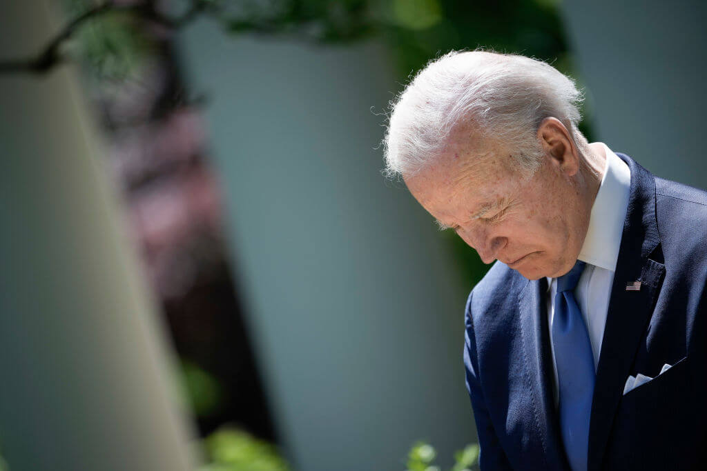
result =
[[659,177],[707,188],[707,2],[561,2],[597,139]]

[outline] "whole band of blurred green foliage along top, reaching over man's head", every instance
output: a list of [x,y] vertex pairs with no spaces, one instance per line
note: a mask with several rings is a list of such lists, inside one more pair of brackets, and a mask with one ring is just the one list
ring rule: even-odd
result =
[[[97,2],[64,4],[67,18],[77,18]],[[556,0],[181,0],[168,6],[160,11],[117,3],[83,22],[68,50],[99,76],[115,77],[149,56],[152,44],[144,23],[177,29],[204,16],[233,35],[250,32],[317,43],[382,35],[395,49],[405,76],[440,52],[477,47],[535,56],[561,71],[571,68]]]

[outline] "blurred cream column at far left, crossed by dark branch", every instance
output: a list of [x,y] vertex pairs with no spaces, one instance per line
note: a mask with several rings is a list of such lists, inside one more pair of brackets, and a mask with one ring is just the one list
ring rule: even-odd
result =
[[[3,59],[58,26],[40,0],[0,18]],[[68,66],[0,76],[0,449],[11,471],[192,469],[85,99]]]

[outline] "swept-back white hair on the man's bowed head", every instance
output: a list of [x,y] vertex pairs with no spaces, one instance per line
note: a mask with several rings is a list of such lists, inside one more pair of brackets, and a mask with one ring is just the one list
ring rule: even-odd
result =
[[445,147],[457,124],[472,122],[500,143],[532,175],[542,148],[537,129],[555,117],[584,150],[578,131],[582,93],[574,81],[542,61],[515,54],[449,52],[431,61],[390,103],[383,148],[390,177],[419,172]]

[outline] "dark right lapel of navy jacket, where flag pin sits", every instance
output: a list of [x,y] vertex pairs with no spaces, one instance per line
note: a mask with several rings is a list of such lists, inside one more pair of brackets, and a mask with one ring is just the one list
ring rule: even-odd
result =
[[[617,155],[631,169],[631,196],[597,367],[589,434],[590,471],[601,467],[624,382],[631,374],[665,274],[665,266],[650,258],[660,251],[653,175],[626,155]],[[641,282],[640,289],[626,290],[636,281]]]

